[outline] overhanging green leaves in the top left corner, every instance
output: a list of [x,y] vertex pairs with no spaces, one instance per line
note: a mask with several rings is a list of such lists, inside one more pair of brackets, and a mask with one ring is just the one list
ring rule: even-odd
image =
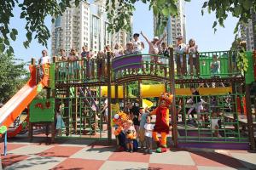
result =
[[[79,5],[81,0],[4,0],[0,5],[0,53],[14,53],[9,44],[9,40],[16,40],[18,31],[10,28],[9,20],[14,17],[13,9],[20,8],[20,19],[26,20],[26,41],[23,42],[25,48],[29,47],[33,38],[47,47],[47,40],[50,37],[49,29],[44,24],[47,16],[59,16],[71,7],[71,3]],[[54,21],[54,20],[52,20]]]

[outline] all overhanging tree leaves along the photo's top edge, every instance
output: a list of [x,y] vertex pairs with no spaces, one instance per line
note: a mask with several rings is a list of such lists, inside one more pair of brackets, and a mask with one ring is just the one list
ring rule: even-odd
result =
[[[12,10],[21,9],[20,19],[26,20],[26,41],[23,42],[25,48],[29,47],[32,38],[38,39],[38,42],[47,46],[47,40],[50,37],[49,29],[44,25],[44,19],[50,15],[54,18],[61,15],[67,7],[73,3],[78,6],[82,0],[4,0],[0,3],[0,53],[6,51],[13,53],[9,40],[15,41],[18,31],[9,27],[9,20],[14,17]],[[111,21],[108,30],[120,31],[131,29],[131,16],[135,10],[135,3],[141,1],[149,3],[149,9],[153,10],[157,16],[157,34],[162,32],[167,24],[170,15],[177,16],[177,0],[106,0],[108,19]],[[190,0],[185,0],[190,2]],[[196,1],[196,0],[195,0]],[[209,13],[216,14],[216,20],[212,28],[216,31],[216,26],[224,26],[224,20],[228,14],[239,18],[240,22],[247,22],[255,13],[256,0],[208,0],[203,3],[202,14],[207,10]],[[54,21],[54,19],[52,20]],[[238,25],[235,31],[238,30]]]

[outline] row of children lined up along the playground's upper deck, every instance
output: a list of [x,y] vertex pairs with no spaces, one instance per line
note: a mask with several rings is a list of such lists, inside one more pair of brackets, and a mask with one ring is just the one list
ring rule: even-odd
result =
[[[87,79],[92,77],[92,69],[94,63],[97,62],[97,77],[103,77],[106,74],[106,58],[108,52],[111,54],[111,59],[120,57],[122,55],[130,55],[130,54],[142,54],[145,48],[144,42],[139,38],[140,35],[144,38],[144,40],[148,43],[148,54],[152,54],[150,56],[150,62],[154,63],[150,65],[150,72],[153,70],[164,70],[166,72],[166,67],[160,66],[159,68],[157,65],[167,64],[166,61],[161,60],[159,55],[162,56],[169,56],[169,48],[166,42],[164,42],[166,38],[166,32],[164,33],[163,37],[154,37],[152,41],[148,39],[148,37],[141,31],[141,33],[135,33],[133,35],[133,39],[131,42],[127,42],[125,48],[122,47],[121,44],[116,43],[114,48],[112,49],[109,45],[105,46],[102,51],[99,51],[97,54],[94,54],[92,50],[88,46],[84,46],[82,48],[81,53],[79,53],[75,48],[71,48],[70,53],[67,55],[64,48],[60,49],[60,54],[57,56],[57,61],[70,61],[68,64],[62,62],[59,64],[58,69],[60,75],[62,77],[69,77],[69,79],[79,79],[81,77],[81,73],[79,70],[83,67],[85,68],[85,75]],[[198,52],[198,46],[195,43],[194,39],[189,40],[189,44],[183,43],[183,37],[177,37],[177,43],[174,46],[174,52],[176,56],[176,63],[180,63],[177,66],[177,72],[181,73],[186,70],[183,65],[183,54],[186,55],[186,65],[192,65],[193,71],[195,71],[195,65],[199,65],[199,59],[197,60],[198,56],[196,53]],[[189,57],[192,55],[192,57]],[[92,61],[96,59],[96,61]],[[81,62],[84,60],[84,62]],[[39,64],[49,63],[50,59],[47,55],[47,51],[42,51],[42,57],[39,59]],[[143,62],[143,61],[142,61]],[[198,62],[198,63],[197,63]],[[190,66],[188,67],[188,71],[191,69]],[[217,75],[220,69],[220,62],[217,55],[212,57],[212,63],[210,65],[211,74]],[[142,71],[145,73],[144,65],[142,65]]]

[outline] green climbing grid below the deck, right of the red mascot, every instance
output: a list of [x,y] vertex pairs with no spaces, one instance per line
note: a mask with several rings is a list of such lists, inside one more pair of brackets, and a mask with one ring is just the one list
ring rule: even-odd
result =
[[241,127],[245,118],[243,96],[201,96],[203,102],[197,104],[199,110],[190,114],[189,110],[195,106],[189,103],[191,96],[176,96],[178,141],[247,143],[247,135]]

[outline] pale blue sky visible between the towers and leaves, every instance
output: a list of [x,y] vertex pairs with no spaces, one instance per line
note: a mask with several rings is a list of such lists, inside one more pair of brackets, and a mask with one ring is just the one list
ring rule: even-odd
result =
[[[215,14],[201,15],[201,6],[205,0],[192,0],[190,3],[185,3],[186,14],[186,37],[194,38],[195,42],[199,46],[199,51],[219,51],[230,49],[231,43],[234,40],[234,28],[236,26],[237,19],[230,16],[224,21],[224,28],[217,27],[218,31],[215,32],[212,29],[212,23],[215,20]],[[133,15],[133,32],[143,31],[148,38],[154,37],[153,32],[153,14],[152,11],[148,11],[148,4],[136,3],[137,10]],[[10,27],[16,28],[19,31],[19,35],[15,42],[11,42],[15,49],[15,57],[30,61],[32,57],[39,59],[41,51],[45,49],[38,43],[37,40],[33,40],[30,44],[30,48],[23,47],[23,41],[26,40],[25,20],[20,20],[20,9],[14,9],[15,17],[10,21]],[[51,27],[50,17],[45,20],[46,26],[49,30]],[[141,37],[143,40],[143,37]],[[50,39],[48,41],[48,51],[50,52]],[[144,53],[148,52],[148,46],[144,50]]]

